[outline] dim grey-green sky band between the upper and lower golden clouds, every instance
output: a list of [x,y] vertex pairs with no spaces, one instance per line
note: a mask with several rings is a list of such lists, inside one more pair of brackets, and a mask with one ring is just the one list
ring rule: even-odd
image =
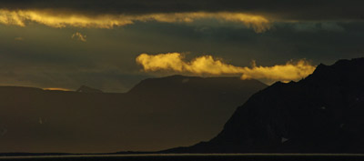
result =
[[[76,32],[86,34],[87,42],[73,41],[70,35]],[[249,66],[252,60],[267,66],[302,58],[329,65],[364,55],[363,22],[275,23],[262,34],[210,20],[182,25],[137,22],[113,30],[0,25],[0,35],[0,85],[86,85],[106,92],[125,92],[143,78],[169,75],[140,72],[136,56],[142,53],[187,53],[187,60],[214,55],[239,66]]]

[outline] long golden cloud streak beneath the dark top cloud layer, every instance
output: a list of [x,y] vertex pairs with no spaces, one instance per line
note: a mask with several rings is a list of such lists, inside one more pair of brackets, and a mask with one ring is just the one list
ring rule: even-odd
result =
[[270,28],[270,22],[261,15],[248,15],[229,12],[190,12],[146,15],[81,15],[70,13],[55,13],[48,10],[7,10],[0,9],[0,23],[5,25],[25,26],[28,22],[52,27],[95,27],[113,28],[114,26],[130,25],[135,22],[157,21],[165,23],[191,23],[197,19],[214,18],[222,21],[239,22],[257,33]]

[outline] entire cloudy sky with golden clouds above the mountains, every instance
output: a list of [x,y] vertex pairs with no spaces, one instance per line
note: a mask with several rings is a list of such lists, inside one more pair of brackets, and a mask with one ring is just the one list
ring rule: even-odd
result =
[[363,1],[2,0],[0,85],[126,92],[147,77],[299,80],[364,55]]

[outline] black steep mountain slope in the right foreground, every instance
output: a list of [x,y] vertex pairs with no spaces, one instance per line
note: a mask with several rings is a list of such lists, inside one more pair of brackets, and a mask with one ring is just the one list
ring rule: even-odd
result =
[[364,153],[364,58],[319,65],[239,106],[208,142],[166,153]]

